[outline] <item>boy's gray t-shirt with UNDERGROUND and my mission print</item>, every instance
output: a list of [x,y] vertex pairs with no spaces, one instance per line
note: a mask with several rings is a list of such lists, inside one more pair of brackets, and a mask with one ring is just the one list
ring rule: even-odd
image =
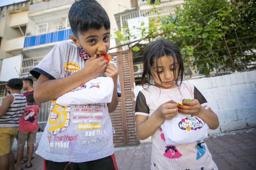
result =
[[[43,74],[59,79],[81,70],[84,63],[76,46],[65,41],[55,45],[30,73],[36,78]],[[117,84],[118,96],[121,96],[119,81]],[[63,107],[55,101],[52,101],[36,154],[55,162],[86,162],[114,153],[107,103]]]

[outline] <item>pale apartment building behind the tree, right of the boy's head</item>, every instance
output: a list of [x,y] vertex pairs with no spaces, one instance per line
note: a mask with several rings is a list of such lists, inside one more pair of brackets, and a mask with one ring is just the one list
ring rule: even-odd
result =
[[[155,19],[155,22],[158,20],[158,17],[169,16],[174,14],[176,7],[182,4],[183,0],[159,0],[160,5],[154,5],[155,0],[151,0],[150,4],[147,4],[147,0],[131,0],[132,8],[131,10],[126,10],[115,14],[116,23],[118,30],[120,30],[125,36],[127,36],[126,42],[136,41],[145,37],[141,36],[140,29],[148,29],[149,21]],[[151,11],[153,7],[156,7],[156,10]],[[144,23],[142,26],[141,23]],[[156,23],[157,24],[157,23]],[[127,34],[129,30],[130,36]],[[134,38],[136,37],[136,38]],[[126,42],[123,42],[126,43]],[[131,48],[132,45],[137,44],[138,46],[144,46],[148,41],[140,41],[140,44],[133,43],[129,47],[123,46],[123,50]],[[140,78],[143,70],[142,64],[142,53],[133,52],[133,71],[136,85],[140,84]]]

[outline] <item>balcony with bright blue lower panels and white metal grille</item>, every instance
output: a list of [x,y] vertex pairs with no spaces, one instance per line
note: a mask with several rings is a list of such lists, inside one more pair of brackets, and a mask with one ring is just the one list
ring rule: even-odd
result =
[[68,21],[69,8],[70,6],[64,6],[62,9],[58,8],[58,10],[29,14],[24,50],[31,49],[34,46],[47,46],[50,43],[68,40],[68,34],[73,34]]

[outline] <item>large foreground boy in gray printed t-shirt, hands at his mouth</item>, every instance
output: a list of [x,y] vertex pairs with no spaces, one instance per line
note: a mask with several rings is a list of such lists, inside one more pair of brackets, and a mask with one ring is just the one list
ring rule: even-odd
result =
[[[49,118],[36,154],[46,169],[116,170],[113,129],[109,112],[121,96],[118,69],[100,54],[110,46],[110,21],[96,0],[72,4],[68,19],[74,44],[63,41],[53,47],[30,73],[38,79],[36,103],[52,100]],[[111,103],[60,106],[56,98],[105,72],[114,82]],[[100,87],[100,86],[99,86]],[[86,87],[90,88],[90,87]],[[93,87],[92,90],[98,87]]]

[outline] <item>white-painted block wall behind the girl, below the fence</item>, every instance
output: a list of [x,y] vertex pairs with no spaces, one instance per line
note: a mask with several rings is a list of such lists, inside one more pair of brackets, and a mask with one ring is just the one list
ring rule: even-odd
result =
[[[218,115],[220,127],[209,134],[256,127],[256,71],[190,79]],[[141,86],[136,86],[138,93]]]

